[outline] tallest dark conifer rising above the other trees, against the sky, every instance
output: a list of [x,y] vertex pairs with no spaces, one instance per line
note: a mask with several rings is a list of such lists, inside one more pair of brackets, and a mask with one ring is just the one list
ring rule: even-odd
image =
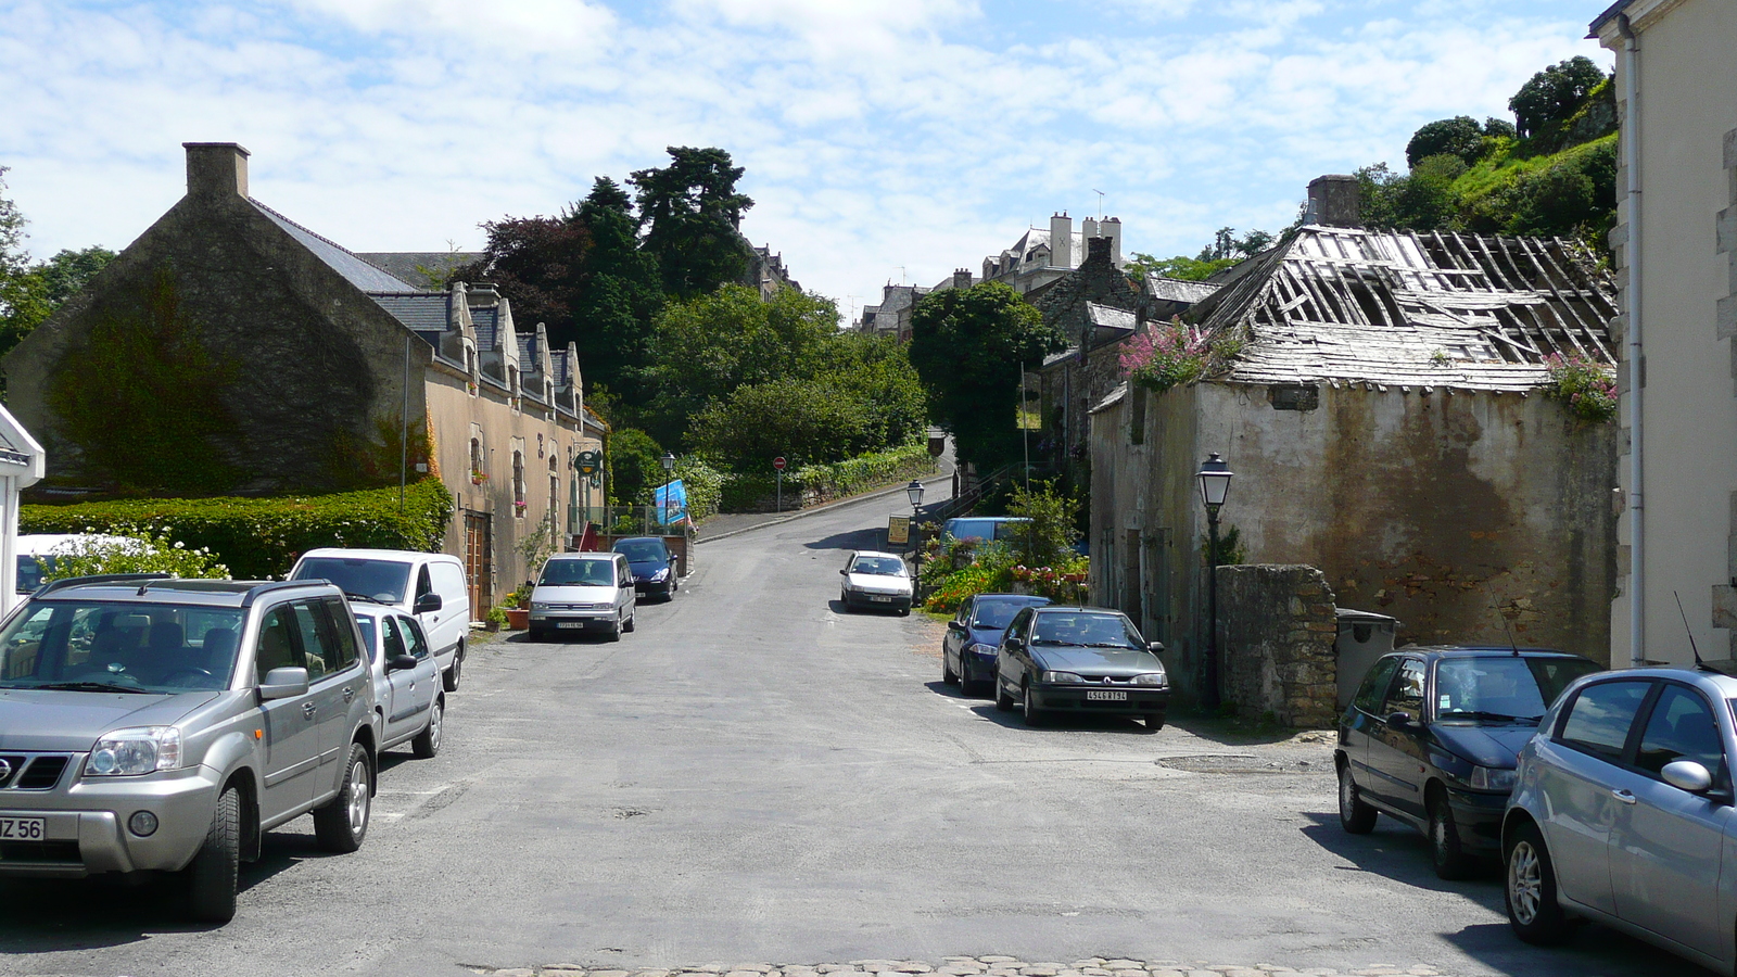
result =
[[738,228],[754,200],[736,193],[743,169],[724,150],[667,151],[667,167],[634,170],[627,183],[639,195],[644,250],[658,261],[664,292],[691,299],[747,273],[752,249]]

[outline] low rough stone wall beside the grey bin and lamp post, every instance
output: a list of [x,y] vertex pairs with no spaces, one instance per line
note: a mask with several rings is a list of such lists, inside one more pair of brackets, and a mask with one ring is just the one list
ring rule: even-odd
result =
[[1289,727],[1337,716],[1339,626],[1327,575],[1315,567],[1218,568],[1219,690],[1244,716]]

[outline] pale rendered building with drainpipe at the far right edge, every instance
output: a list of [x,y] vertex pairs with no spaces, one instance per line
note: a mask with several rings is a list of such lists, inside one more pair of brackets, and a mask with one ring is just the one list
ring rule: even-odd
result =
[[1737,657],[1737,7],[1622,0],[1591,33],[1615,52],[1621,118],[1610,659],[1688,662],[1690,640]]

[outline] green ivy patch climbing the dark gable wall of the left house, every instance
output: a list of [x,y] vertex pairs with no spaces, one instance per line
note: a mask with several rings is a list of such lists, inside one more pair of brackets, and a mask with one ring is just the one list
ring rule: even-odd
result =
[[99,318],[64,355],[47,402],[87,471],[123,492],[201,495],[240,482],[221,447],[238,436],[222,398],[238,367],[200,332],[160,268],[135,306]]

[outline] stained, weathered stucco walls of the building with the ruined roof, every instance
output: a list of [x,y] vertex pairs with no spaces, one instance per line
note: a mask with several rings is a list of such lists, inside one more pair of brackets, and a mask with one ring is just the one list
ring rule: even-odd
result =
[[1607,661],[1614,426],[1541,395],[1327,386],[1315,410],[1275,410],[1263,386],[1148,395],[1143,445],[1134,414],[1129,393],[1093,415],[1093,600],[1138,596],[1183,683],[1199,666],[1193,475],[1209,452],[1235,471],[1223,523],[1247,562],[1320,567],[1346,607],[1398,617],[1402,643],[1506,643],[1506,607],[1516,641]]

